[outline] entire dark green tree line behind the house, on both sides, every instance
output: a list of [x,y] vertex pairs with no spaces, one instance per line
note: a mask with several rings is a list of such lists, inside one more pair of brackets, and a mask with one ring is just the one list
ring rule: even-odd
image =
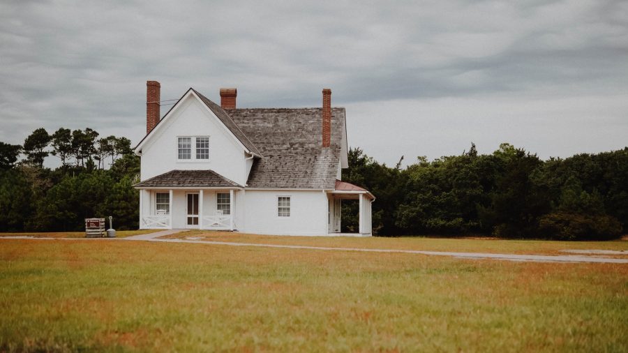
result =
[[[114,216],[137,229],[140,158],[126,137],[39,128],[24,144],[0,142],[0,232],[78,231],[84,218]],[[57,156],[61,166],[44,166]],[[343,180],[364,186],[380,236],[477,234],[509,238],[613,239],[628,230],[628,147],[541,160],[502,144],[401,167],[349,152]],[[343,232],[357,231],[355,202],[343,202]]]

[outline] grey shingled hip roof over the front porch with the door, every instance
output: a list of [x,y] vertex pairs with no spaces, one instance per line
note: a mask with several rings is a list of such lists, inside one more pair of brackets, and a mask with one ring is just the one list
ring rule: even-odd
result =
[[171,170],[136,183],[135,188],[242,188],[213,170]]

